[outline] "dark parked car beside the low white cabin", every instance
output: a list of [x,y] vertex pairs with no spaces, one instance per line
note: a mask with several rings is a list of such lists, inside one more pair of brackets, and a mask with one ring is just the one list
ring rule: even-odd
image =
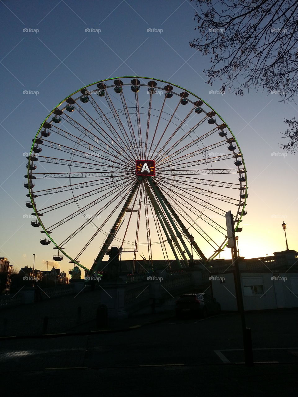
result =
[[215,298],[205,293],[181,295],[176,301],[176,316],[196,315],[206,318],[209,314],[219,314],[221,305]]

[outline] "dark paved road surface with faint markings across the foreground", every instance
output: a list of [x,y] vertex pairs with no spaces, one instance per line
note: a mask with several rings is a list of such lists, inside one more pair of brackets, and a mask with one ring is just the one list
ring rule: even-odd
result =
[[159,314],[126,320],[126,331],[2,339],[0,371],[10,395],[23,395],[28,379],[37,395],[295,395],[297,315],[246,314],[259,362],[252,368],[236,364],[244,360],[238,314],[205,320]]

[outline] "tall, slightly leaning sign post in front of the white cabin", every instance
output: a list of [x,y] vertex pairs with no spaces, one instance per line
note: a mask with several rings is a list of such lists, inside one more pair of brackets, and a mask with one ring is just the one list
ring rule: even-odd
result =
[[249,367],[252,367],[253,366],[252,335],[251,335],[251,329],[246,328],[246,323],[245,323],[241,277],[239,271],[239,260],[238,260],[238,252],[236,247],[236,237],[235,237],[235,228],[234,228],[234,217],[231,211],[226,213],[226,231],[228,233],[227,247],[231,249],[231,253],[232,253],[236,299],[237,299],[238,312],[240,313],[241,323],[242,323],[244,359],[245,359],[245,364]]

